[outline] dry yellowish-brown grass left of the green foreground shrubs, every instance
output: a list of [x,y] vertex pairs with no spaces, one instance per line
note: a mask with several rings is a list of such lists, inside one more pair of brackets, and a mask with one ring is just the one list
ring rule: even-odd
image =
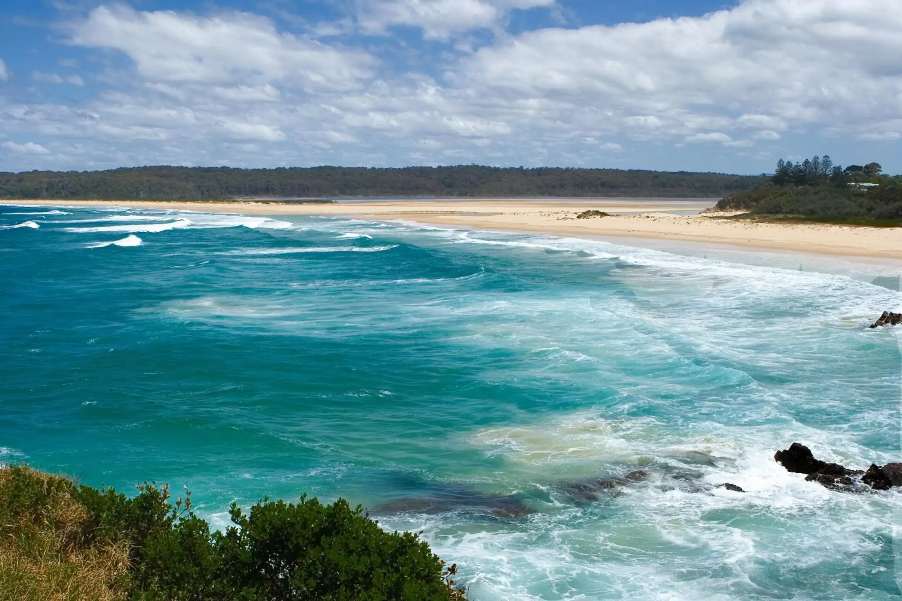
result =
[[126,598],[129,544],[90,542],[66,478],[0,469],[0,601]]

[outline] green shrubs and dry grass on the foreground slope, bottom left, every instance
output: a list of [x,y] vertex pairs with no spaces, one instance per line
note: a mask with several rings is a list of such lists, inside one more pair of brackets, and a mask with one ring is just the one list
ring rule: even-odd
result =
[[0,469],[0,601],[463,601],[456,566],[360,507],[233,504],[223,532],[168,486],[128,497],[24,466]]

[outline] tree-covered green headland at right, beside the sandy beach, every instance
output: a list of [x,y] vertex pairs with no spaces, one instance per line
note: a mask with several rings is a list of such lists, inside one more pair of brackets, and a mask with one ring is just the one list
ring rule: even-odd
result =
[[902,219],[902,178],[881,171],[879,163],[842,168],[829,156],[795,164],[780,159],[768,182],[725,196],[715,209],[825,220]]

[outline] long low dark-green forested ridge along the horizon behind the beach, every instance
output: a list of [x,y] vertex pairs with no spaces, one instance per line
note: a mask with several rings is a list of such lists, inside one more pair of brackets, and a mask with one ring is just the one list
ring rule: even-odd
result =
[[184,168],[0,172],[0,198],[173,198],[322,196],[682,196],[715,197],[763,178],[618,169]]

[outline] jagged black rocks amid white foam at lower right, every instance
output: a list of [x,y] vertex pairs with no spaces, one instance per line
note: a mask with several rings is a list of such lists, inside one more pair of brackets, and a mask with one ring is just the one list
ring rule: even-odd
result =
[[848,469],[838,463],[815,459],[811,450],[798,442],[793,442],[785,451],[777,451],[774,460],[787,471],[806,474],[805,481],[817,482],[832,490],[861,492],[868,487],[872,490],[902,487],[902,463],[888,463],[882,467],[871,464],[866,472]]

